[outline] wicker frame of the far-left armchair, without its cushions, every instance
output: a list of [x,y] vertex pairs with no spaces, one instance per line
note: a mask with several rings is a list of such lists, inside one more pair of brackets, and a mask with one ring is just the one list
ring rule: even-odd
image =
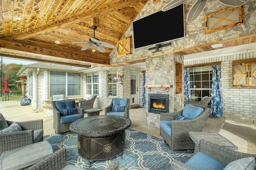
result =
[[[6,120],[10,126],[13,121]],[[22,127],[22,131],[16,131],[12,133],[0,134],[0,154],[7,150],[30,145],[35,142],[43,141],[43,120],[31,120],[31,121],[15,121]],[[34,141],[34,131],[42,130],[38,141]]]

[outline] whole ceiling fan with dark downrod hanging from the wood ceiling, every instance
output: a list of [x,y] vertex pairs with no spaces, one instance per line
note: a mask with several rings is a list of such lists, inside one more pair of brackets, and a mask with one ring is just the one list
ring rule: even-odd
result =
[[90,47],[92,47],[92,45],[94,45],[96,47],[96,49],[102,53],[106,52],[106,49],[104,47],[114,48],[114,45],[109,44],[109,43],[100,42],[100,40],[95,37],[95,29],[96,28],[97,28],[97,26],[92,25],[93,37],[89,39],[89,42],[74,42],[74,43],[90,43],[90,44],[82,47],[82,49],[81,49],[82,51],[89,49]]

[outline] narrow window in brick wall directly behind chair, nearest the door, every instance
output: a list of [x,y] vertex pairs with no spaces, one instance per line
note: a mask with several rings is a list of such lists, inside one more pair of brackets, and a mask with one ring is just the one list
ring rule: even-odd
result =
[[117,71],[108,70],[108,96],[117,96]]

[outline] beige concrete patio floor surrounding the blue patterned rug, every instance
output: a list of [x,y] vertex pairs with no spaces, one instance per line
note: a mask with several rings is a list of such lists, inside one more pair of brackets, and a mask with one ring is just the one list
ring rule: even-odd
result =
[[[10,121],[27,121],[43,119],[44,136],[53,134],[53,117],[44,117],[43,112],[36,112],[31,106],[21,106],[20,101],[2,102],[0,113]],[[104,115],[104,109],[100,112]],[[86,117],[86,115],[85,115]],[[160,129],[146,125],[145,107],[130,109],[131,129],[161,138]],[[204,125],[203,131],[219,133],[234,143],[239,152],[256,154],[256,123],[233,121],[221,117],[209,117]]]

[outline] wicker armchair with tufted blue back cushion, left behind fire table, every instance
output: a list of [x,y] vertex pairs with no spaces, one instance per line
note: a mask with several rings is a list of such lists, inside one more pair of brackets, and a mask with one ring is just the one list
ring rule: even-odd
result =
[[84,117],[84,109],[78,107],[75,100],[54,101],[52,103],[52,109],[53,129],[55,133],[70,131],[69,127],[71,123]]

